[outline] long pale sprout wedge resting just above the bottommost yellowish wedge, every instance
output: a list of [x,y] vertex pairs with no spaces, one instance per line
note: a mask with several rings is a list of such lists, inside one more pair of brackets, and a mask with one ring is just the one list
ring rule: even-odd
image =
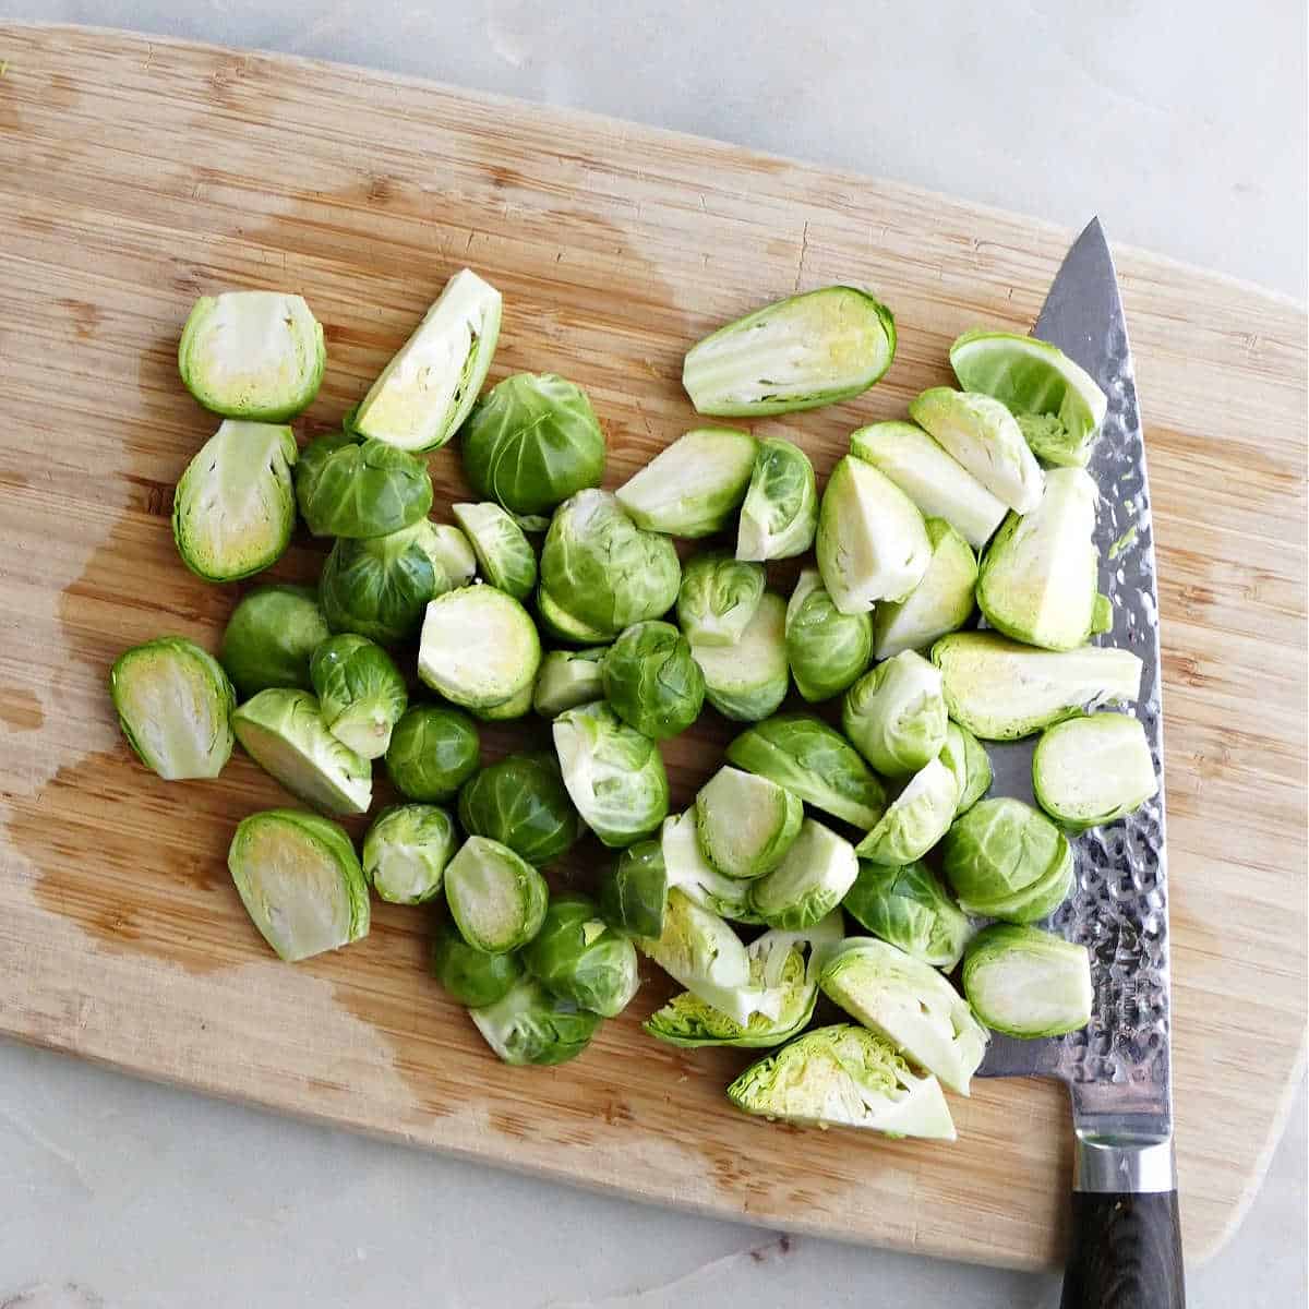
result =
[[823,995],[961,1096],[986,1054],[987,1031],[929,963],[886,941],[853,936],[827,958]]

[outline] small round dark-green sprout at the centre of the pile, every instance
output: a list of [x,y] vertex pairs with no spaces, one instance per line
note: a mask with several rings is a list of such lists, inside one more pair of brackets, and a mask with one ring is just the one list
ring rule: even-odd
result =
[[685,732],[704,704],[704,674],[691,643],[672,624],[649,619],[622,631],[601,665],[605,699],[652,741]]

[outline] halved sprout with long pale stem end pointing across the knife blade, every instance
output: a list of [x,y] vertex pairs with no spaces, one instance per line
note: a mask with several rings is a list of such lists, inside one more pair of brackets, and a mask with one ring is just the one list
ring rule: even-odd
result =
[[995,632],[956,632],[932,647],[950,717],[983,741],[1031,736],[1086,707],[1140,696],[1141,661],[1085,645],[1034,651]]

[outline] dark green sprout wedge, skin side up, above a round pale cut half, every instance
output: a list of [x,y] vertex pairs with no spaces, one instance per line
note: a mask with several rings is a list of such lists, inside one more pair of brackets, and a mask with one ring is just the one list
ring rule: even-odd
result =
[[882,784],[855,747],[808,713],[779,713],[742,732],[728,762],[856,827],[872,827],[886,809]]

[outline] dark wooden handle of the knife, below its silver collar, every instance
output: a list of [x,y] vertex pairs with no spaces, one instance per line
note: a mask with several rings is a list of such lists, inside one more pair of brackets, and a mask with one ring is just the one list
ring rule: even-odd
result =
[[1186,1309],[1177,1191],[1072,1196],[1060,1309]]

